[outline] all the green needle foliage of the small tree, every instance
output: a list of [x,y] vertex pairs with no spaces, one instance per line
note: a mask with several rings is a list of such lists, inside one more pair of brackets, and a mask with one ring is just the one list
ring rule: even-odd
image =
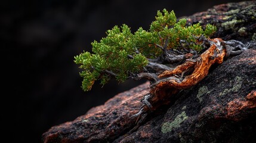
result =
[[84,52],[75,57],[75,63],[84,69],[80,73],[84,77],[82,88],[84,91],[90,90],[95,80],[101,80],[104,85],[111,76],[123,82],[129,73],[143,72],[143,67],[148,64],[147,58],[159,57],[164,48],[180,51],[192,48],[200,52],[202,46],[198,42],[199,37],[211,36],[215,30],[216,27],[211,24],[205,30],[199,23],[186,26],[186,19],[177,22],[174,11],[169,13],[165,9],[158,11],[149,31],[140,27],[132,34],[125,24],[115,26],[107,30],[106,38],[91,43],[92,54]]

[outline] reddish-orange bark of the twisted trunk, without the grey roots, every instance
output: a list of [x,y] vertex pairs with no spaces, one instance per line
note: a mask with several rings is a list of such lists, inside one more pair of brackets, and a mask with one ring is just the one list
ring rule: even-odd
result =
[[[177,66],[174,70],[166,70],[159,74],[160,79],[150,89],[152,97],[149,102],[153,105],[151,110],[159,107],[159,103],[168,104],[168,100],[174,94],[177,94],[181,89],[190,88],[199,83],[205,76],[207,76],[212,64],[221,64],[226,55],[226,48],[221,45],[223,42],[220,38],[209,39],[211,46],[203,52],[200,57],[195,60],[187,60],[185,63]],[[192,70],[192,73],[186,77],[177,77],[176,74],[185,73]],[[149,107],[145,105],[145,110]]]

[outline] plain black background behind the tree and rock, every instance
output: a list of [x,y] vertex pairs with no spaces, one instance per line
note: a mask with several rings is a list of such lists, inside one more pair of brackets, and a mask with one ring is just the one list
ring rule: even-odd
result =
[[73,57],[90,51],[91,42],[106,36],[106,30],[124,23],[132,32],[147,30],[157,10],[174,10],[181,17],[227,2],[238,1],[1,2],[4,137],[8,142],[40,142],[51,126],[74,120],[146,81],[112,80],[103,88],[95,83],[91,91],[82,91]]

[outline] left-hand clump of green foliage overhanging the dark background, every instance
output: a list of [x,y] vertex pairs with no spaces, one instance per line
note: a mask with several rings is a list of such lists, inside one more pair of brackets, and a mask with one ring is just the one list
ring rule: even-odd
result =
[[[75,57],[75,63],[81,64],[84,69],[81,76],[84,77],[82,88],[84,91],[91,89],[95,80],[100,79],[101,84],[105,84],[110,79],[111,71],[116,74],[116,80],[124,82],[127,80],[128,73],[141,71],[148,61],[140,53],[136,53],[135,45],[132,42],[133,36],[127,25],[121,29],[118,26],[112,30],[107,30],[107,37],[100,42],[92,42],[92,52],[84,52]],[[129,58],[131,55],[132,58]]]

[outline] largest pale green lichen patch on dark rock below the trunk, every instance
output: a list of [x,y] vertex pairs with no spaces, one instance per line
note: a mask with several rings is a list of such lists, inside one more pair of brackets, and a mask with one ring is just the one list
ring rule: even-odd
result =
[[172,122],[166,122],[162,125],[161,131],[163,133],[171,132],[174,128],[179,128],[180,123],[182,123],[184,120],[187,120],[189,117],[186,115],[185,111],[181,112]]

